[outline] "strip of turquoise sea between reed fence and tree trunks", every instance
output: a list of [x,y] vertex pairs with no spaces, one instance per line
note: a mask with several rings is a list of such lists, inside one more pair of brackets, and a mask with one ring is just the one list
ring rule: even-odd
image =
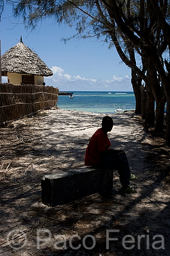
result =
[[135,109],[133,91],[73,91],[73,98],[58,96],[59,109],[88,111],[93,113],[116,113]]

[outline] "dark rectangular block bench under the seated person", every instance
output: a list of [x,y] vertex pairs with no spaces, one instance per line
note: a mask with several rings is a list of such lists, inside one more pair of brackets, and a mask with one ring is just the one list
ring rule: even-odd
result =
[[100,193],[108,195],[113,188],[113,171],[81,167],[45,175],[41,180],[42,203],[52,207]]

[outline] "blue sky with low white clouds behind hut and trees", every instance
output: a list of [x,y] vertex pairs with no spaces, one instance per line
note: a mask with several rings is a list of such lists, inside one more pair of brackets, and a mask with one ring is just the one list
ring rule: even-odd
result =
[[[1,55],[22,42],[52,69],[53,76],[44,78],[46,85],[60,91],[133,91],[131,69],[114,47],[95,39],[63,38],[74,35],[75,29],[58,25],[48,18],[31,31],[22,18],[14,18],[10,5],[5,5],[0,22]],[[2,77],[2,83],[7,78]]]

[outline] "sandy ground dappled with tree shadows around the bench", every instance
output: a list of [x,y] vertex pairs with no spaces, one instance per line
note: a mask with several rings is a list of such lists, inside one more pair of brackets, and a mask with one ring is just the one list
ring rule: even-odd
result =
[[[169,147],[145,131],[134,111],[109,115],[114,128],[108,137],[114,148],[126,149],[137,193],[120,195],[114,171],[111,198],[95,194],[54,208],[41,203],[41,178],[84,166],[88,141],[105,114],[51,108],[0,128],[0,255],[169,255]],[[118,238],[108,248],[107,230]],[[90,238],[82,242],[88,235],[94,248]],[[131,240],[126,246],[124,236]]]

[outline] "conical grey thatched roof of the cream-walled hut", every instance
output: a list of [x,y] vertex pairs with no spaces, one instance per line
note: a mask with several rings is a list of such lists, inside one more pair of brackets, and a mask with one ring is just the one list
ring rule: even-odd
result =
[[1,72],[2,76],[7,76],[7,72],[52,76],[52,70],[23,42],[1,56]]

